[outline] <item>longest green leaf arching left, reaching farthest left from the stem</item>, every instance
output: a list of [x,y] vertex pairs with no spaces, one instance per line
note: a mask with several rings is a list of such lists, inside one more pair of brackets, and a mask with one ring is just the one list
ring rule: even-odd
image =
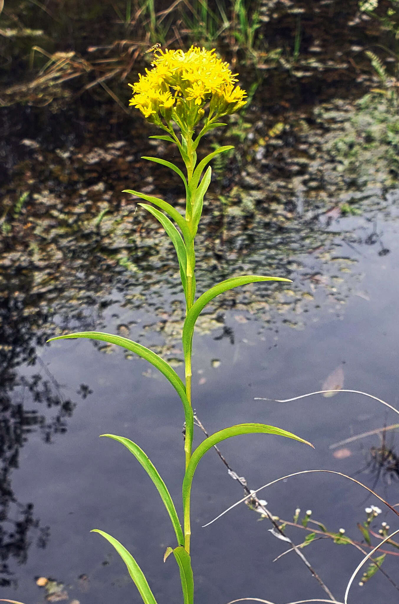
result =
[[103,342],[109,342],[110,344],[117,344],[122,348],[130,350],[134,352],[136,355],[141,356],[142,359],[151,363],[158,371],[166,377],[166,379],[171,383],[174,390],[176,390],[177,394],[179,394],[182,403],[188,403],[186,396],[185,385],[181,381],[180,377],[177,375],[176,371],[174,371],[171,366],[161,358],[161,356],[156,355],[152,350],[145,348],[138,342],[133,342],[133,340],[129,338],[122,338],[121,336],[114,336],[111,333],[103,333],[103,332],[76,332],[76,333],[68,333],[63,336],[57,336],[56,338],[50,338],[48,342],[53,342],[58,339],[71,339],[71,338],[89,338],[101,340]]

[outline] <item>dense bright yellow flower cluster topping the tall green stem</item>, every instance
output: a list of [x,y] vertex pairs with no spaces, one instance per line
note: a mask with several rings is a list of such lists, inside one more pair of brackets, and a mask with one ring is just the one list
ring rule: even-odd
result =
[[214,50],[191,47],[182,50],[157,50],[153,69],[139,74],[133,88],[130,105],[138,108],[148,121],[176,121],[195,126],[209,112],[214,117],[232,114],[246,104],[246,92],[235,86],[237,74],[218,59]]

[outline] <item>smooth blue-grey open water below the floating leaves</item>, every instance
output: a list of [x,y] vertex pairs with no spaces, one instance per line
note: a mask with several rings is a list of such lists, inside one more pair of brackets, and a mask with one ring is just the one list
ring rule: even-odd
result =
[[[330,399],[314,396],[281,405],[254,400],[256,396],[286,398],[318,390],[327,375],[342,364],[346,388],[375,394],[398,406],[397,201],[398,196],[390,194],[383,204],[385,210],[366,208],[362,216],[324,225],[322,230],[330,233],[331,239],[322,251],[301,254],[299,248],[290,256],[292,288],[246,288],[251,300],[258,294],[267,300],[270,289],[273,297],[276,290],[284,292],[279,294],[278,303],[270,304],[267,312],[261,308],[257,314],[254,308],[240,306],[241,298],[246,297],[237,294],[236,306],[223,307],[217,321],[204,323],[205,333],[194,339],[194,405],[209,431],[234,423],[264,422],[296,432],[315,446],[313,450],[262,435],[224,442],[223,454],[235,471],[247,478],[251,488],[302,469],[354,474],[365,466],[369,447],[379,446],[378,437],[348,445],[351,456],[343,460],[333,457],[329,445],[351,434],[379,428],[384,422],[397,422],[395,414],[386,413],[379,403],[354,394],[341,393]],[[348,233],[354,243],[350,243]],[[366,245],[376,239],[370,239],[372,233],[380,235],[383,245],[379,240]],[[381,249],[385,251],[381,253]],[[250,259],[246,263],[251,265],[251,249],[247,255]],[[326,258],[328,263],[324,262]],[[292,268],[294,263],[296,269]],[[262,264],[267,272],[266,256]],[[314,274],[319,279],[312,281],[306,276]],[[163,277],[173,282],[175,274],[170,271]],[[159,292],[171,309],[181,301],[170,286],[160,286],[157,296]],[[162,301],[158,297],[152,300],[151,290],[147,291],[146,297],[158,310],[154,312],[150,307],[135,312],[126,303],[127,293],[129,288],[110,292],[106,298],[110,304],[103,303],[101,312],[94,312],[92,306],[80,306],[80,310],[91,317],[92,327],[109,332],[124,333],[129,322],[136,321],[130,326],[130,337],[147,345],[172,338],[169,356],[181,359],[173,327],[171,336],[164,333],[162,338],[155,330]],[[173,325],[173,316],[168,318]],[[65,320],[65,316],[59,318]],[[58,407],[43,411],[43,405],[32,400],[21,380],[11,392],[14,413],[18,405],[24,405],[44,414],[53,427],[47,431],[51,439],[43,438],[45,430],[32,429],[19,452],[18,467],[12,471],[15,500],[33,504],[33,516],[40,519],[40,526],[28,532],[27,541],[32,542],[26,548],[24,564],[16,564],[12,556],[8,559],[14,574],[8,577],[11,585],[1,590],[2,596],[42,602],[34,577],[45,576],[65,583],[69,599],[82,603],[138,602],[117,554],[100,536],[89,533],[91,528],[101,528],[120,539],[136,556],[159,602],[180,601],[176,565],[171,559],[162,562],[165,548],[173,544],[173,533],[158,493],[126,450],[115,442],[98,439],[99,434],[110,432],[135,440],[178,501],[184,461],[182,410],[172,388],[144,361],[125,358],[122,350],[112,347],[101,354],[91,341],[54,342],[38,347],[36,352],[42,368],[37,363],[34,367],[22,364],[19,373],[26,380],[41,373],[50,384],[62,385],[60,396],[64,400],[78,400],[81,384],[88,385],[92,393],[78,402],[70,417],[64,417],[64,431],[62,427],[57,430],[59,420],[53,419]],[[177,371],[182,374],[182,365]],[[199,442],[199,430],[196,439]],[[394,437],[388,435],[388,442],[391,439]],[[359,478],[369,486],[374,481],[369,472]],[[391,503],[397,503],[398,483],[393,480],[388,487],[386,478],[381,476],[376,489]],[[240,496],[240,487],[228,476],[219,458],[209,452],[197,469],[193,487],[192,556],[197,602],[227,603],[245,596],[273,602],[324,597],[295,554],[272,563],[285,544],[268,532],[267,521],[257,522],[257,515],[246,507],[238,507],[211,527],[201,528]],[[332,475],[292,478],[263,492],[262,497],[281,518],[292,519],[297,506],[302,510],[311,508],[313,517],[330,530],[343,527],[356,539],[356,522],[363,521],[365,505],[378,503],[375,498],[365,503],[365,492],[360,487]],[[395,518],[385,510],[375,522],[377,530],[383,519],[394,530]],[[40,530],[45,535],[43,527],[49,527],[49,535],[45,548],[40,548],[36,540]],[[296,535],[294,540],[301,542],[303,535]],[[360,553],[350,546],[317,541],[305,554],[334,596],[342,599]],[[388,557],[384,567],[392,577],[397,576],[395,557]],[[82,574],[88,579],[79,580]],[[377,573],[363,588],[355,582],[350,601],[366,604],[397,599],[397,591]]]

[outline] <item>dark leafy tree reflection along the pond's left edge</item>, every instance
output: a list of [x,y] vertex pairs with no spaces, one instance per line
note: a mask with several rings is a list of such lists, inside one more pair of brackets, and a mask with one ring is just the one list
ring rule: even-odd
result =
[[[64,434],[76,405],[63,396],[62,387],[37,355],[46,339],[43,326],[49,313],[27,313],[25,308],[21,295],[2,298],[0,303],[0,586],[16,583],[10,559],[24,564],[31,545],[43,549],[50,536],[49,527],[34,513],[34,503],[19,501],[14,493],[12,476],[21,449],[32,432],[39,432],[49,444]],[[81,396],[89,393],[82,384]],[[51,416],[43,407],[51,410]]]

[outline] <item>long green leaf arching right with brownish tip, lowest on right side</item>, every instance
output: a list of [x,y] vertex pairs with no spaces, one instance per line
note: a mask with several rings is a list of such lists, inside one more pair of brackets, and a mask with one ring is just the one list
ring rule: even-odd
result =
[[299,440],[299,442],[313,447],[307,440],[301,439],[299,436],[296,436],[296,434],[292,434],[292,432],[287,432],[287,430],[282,430],[275,426],[268,426],[264,423],[241,423],[237,426],[231,426],[230,428],[215,432],[207,439],[203,440],[202,443],[197,446],[193,455],[191,455],[190,462],[188,463],[184,475],[182,489],[183,506],[185,510],[190,509],[191,484],[193,483],[194,472],[196,471],[200,458],[205,455],[206,451],[209,451],[214,445],[217,445],[217,443],[222,442],[222,440],[230,439],[232,436],[237,436],[238,434],[277,434],[278,436],[285,436],[287,439]]

